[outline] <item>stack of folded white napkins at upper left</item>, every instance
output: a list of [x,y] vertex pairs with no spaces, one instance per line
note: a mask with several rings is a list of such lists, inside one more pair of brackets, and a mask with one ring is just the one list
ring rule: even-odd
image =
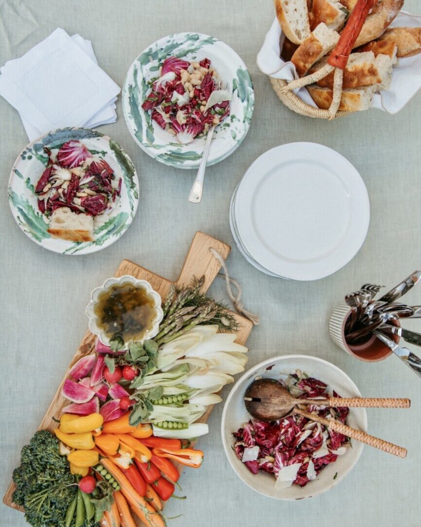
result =
[[117,119],[120,88],[81,35],[58,28],[0,72],[0,95],[21,115],[30,141],[57,128],[94,128]]

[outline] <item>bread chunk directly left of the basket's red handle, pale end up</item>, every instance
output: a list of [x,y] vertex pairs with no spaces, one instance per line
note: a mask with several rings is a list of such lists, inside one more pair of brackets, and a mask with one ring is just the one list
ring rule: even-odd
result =
[[298,75],[305,75],[315,62],[336,46],[338,40],[339,33],[329,30],[324,22],[319,24],[291,58]]

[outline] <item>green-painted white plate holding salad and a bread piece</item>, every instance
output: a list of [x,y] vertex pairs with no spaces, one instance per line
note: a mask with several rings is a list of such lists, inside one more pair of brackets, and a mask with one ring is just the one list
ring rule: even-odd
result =
[[[99,214],[94,219],[95,241],[91,242],[52,238],[47,232],[48,219],[38,210],[34,192],[47,164],[44,147],[52,150],[54,156],[62,144],[71,140],[83,142],[93,154],[107,161],[116,178],[123,178],[121,197],[116,206],[106,216]],[[64,128],[29,143],[18,155],[10,175],[8,192],[13,216],[28,238],[50,251],[87,255],[117,241],[132,223],[137,209],[139,182],[132,161],[115,141],[96,130]]]

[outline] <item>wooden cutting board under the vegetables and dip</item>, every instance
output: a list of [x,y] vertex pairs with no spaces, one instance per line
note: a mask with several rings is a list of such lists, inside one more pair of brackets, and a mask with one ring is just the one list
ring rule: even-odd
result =
[[[216,240],[215,238],[212,238],[203,232],[196,232],[192,241],[192,245],[190,246],[184,261],[181,273],[176,281],[178,287],[189,285],[194,276],[200,278],[204,275],[205,282],[203,284],[202,291],[207,291],[220,269],[218,260],[209,250],[211,248],[216,249],[216,251],[220,254],[220,256],[223,257],[224,260],[227,258],[229,251],[231,250],[231,248],[226,245],[226,243]],[[169,286],[172,283],[171,280],[156,275],[154,272],[148,271],[147,269],[144,269],[143,267],[138,266],[129,260],[123,260],[115,273],[116,277],[123,275],[132,275],[136,278],[147,280],[150,282],[155,291],[161,295],[163,300],[166,298]],[[244,345],[247,341],[250,331],[252,330],[253,324],[247,318],[237,315],[236,313],[232,313],[232,315],[235,316],[239,324],[236,342],[238,344]],[[92,334],[91,331],[86,332],[84,338],[82,339],[81,345],[77,349],[76,355],[73,357],[73,360],[68,367],[67,372],[81,357],[94,353],[95,339],[96,336]],[[57,427],[57,423],[54,422],[52,417],[58,418],[61,414],[61,409],[68,404],[68,400],[61,395],[62,386],[67,377],[68,373],[66,373],[64,379],[58,387],[53,401],[49,405],[38,430],[44,430],[45,428],[47,430],[53,430]],[[207,412],[201,417],[201,419],[199,419],[198,422],[206,423],[211,411],[212,406],[209,406]],[[218,425],[215,423],[215,426]],[[183,465],[177,465],[177,468],[179,471],[182,471],[184,467]],[[22,507],[18,507],[12,501],[12,494],[14,490],[15,484],[12,482],[3,497],[3,502],[9,507],[23,511]],[[137,519],[135,517],[135,521],[136,520]],[[136,523],[139,525],[139,527],[143,525],[140,520],[137,520]]]

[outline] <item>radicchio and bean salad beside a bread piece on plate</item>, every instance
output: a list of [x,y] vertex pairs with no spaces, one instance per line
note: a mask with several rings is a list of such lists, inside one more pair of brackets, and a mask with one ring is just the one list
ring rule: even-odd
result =
[[120,196],[122,178],[114,177],[113,169],[96,157],[80,141],[68,141],[58,150],[55,159],[51,150],[47,168],[39,178],[35,194],[38,209],[47,217],[66,207],[78,214],[98,216],[111,209]]

